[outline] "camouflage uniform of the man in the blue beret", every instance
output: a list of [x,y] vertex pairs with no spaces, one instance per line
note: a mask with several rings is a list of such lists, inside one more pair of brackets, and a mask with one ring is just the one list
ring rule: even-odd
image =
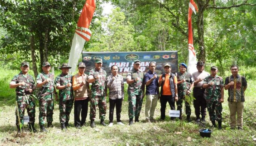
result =
[[[191,84],[194,82],[194,79],[190,73],[185,72],[184,74],[182,74],[181,72],[177,72],[177,81],[181,81],[183,79],[186,79],[186,81],[177,85],[178,101],[176,102],[176,105],[177,105],[177,110],[180,110],[180,117],[182,115],[182,102],[184,100],[187,90],[190,88]],[[188,96],[191,96],[191,95],[188,95]],[[187,101],[185,102],[185,113],[186,115],[191,115],[191,108]]]

